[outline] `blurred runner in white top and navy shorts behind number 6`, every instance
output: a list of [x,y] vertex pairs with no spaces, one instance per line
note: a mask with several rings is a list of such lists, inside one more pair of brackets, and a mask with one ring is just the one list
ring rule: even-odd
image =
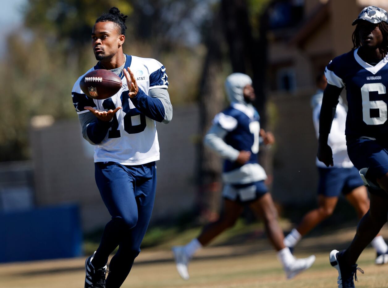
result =
[[[317,92],[311,98],[313,108],[313,122],[317,136],[319,136],[319,114],[322,105],[323,91],[326,88],[327,81],[325,75],[317,77]],[[331,125],[328,144],[333,151],[333,167],[326,167],[324,163],[317,159],[319,173],[318,182],[318,208],[308,212],[301,223],[291,230],[284,244],[292,251],[294,246],[310,230],[317,226],[324,219],[333,214],[336,207],[338,196],[341,192],[345,198],[355,208],[359,218],[367,213],[369,209],[369,198],[359,171],[353,166],[346,150],[345,139],[345,121],[346,108],[340,102],[337,105],[333,123]],[[372,246],[376,250],[376,264],[385,264],[388,262],[388,246],[381,235],[372,240]]]

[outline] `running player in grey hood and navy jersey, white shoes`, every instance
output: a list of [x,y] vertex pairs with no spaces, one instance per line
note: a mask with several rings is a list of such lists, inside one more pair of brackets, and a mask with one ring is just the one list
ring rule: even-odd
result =
[[314,263],[315,256],[296,259],[283,243],[284,235],[277,221],[277,211],[264,184],[267,175],[257,162],[259,135],[264,144],[272,144],[274,137],[260,129],[260,117],[251,105],[255,99],[251,78],[233,73],[227,77],[225,87],[231,105],[216,115],[204,139],[210,149],[225,159],[222,173],[224,209],[220,218],[206,225],[199,237],[185,246],[173,247],[178,273],[183,279],[189,279],[187,266],[194,253],[232,227],[246,204],[263,219],[265,231],[277,251],[287,278],[293,278],[308,269]]

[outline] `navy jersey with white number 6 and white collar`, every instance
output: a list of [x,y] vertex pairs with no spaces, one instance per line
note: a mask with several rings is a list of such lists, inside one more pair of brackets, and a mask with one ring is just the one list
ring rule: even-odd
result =
[[327,82],[346,86],[348,139],[361,136],[381,138],[388,132],[388,55],[376,66],[362,60],[358,49],[334,58],[325,69]]

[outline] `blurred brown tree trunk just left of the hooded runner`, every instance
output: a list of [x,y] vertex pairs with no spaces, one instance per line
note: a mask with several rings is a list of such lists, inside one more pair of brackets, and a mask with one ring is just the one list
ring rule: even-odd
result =
[[223,109],[224,93],[220,73],[222,71],[223,35],[220,15],[215,13],[210,27],[206,29],[207,55],[199,87],[199,119],[201,142],[198,144],[199,191],[197,206],[201,221],[212,221],[218,217],[220,207],[221,160],[203,145],[203,137],[211,126],[211,120]]

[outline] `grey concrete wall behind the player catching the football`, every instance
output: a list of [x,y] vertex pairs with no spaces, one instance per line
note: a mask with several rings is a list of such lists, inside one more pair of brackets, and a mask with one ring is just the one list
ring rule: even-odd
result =
[[[161,160],[152,220],[176,216],[194,201],[196,106],[174,108],[173,121],[158,124]],[[78,119],[31,128],[31,150],[38,206],[76,203],[84,230],[110,218],[94,180],[93,146],[82,138]]]

